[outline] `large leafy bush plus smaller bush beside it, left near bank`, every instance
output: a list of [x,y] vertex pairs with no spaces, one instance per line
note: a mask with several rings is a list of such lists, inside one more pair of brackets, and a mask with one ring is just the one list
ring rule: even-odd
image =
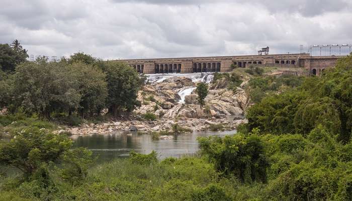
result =
[[46,129],[24,129],[0,144],[0,165],[20,170],[25,181],[49,185],[50,167],[61,163],[61,179],[78,182],[92,163],[92,152],[71,149],[72,140]]

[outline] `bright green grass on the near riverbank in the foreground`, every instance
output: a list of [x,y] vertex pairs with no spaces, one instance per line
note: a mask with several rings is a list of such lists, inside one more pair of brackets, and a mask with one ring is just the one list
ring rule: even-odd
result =
[[[54,187],[38,182],[19,183],[16,177],[0,179],[5,200],[247,200],[261,188],[223,177],[205,158],[155,160],[155,153],[96,165],[83,183],[72,186],[51,173]],[[15,185],[16,184],[16,185]],[[18,184],[18,185],[17,185]]]

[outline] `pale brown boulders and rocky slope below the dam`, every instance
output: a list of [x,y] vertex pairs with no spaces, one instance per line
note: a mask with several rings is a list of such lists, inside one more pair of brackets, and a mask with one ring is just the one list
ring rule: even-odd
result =
[[[212,83],[212,76],[154,76],[139,91],[137,99],[142,105],[133,112],[133,118],[102,124],[84,124],[67,128],[66,131],[73,135],[115,131],[152,132],[171,130],[174,124],[192,131],[206,131],[212,124],[221,124],[224,129],[233,130],[238,124],[246,122],[241,118],[249,105],[249,98],[244,90],[246,78],[243,77],[240,87],[228,90],[226,80]],[[203,107],[198,105],[198,95],[194,90],[200,81],[209,83],[209,93]],[[157,119],[143,120],[146,113],[154,114]]]

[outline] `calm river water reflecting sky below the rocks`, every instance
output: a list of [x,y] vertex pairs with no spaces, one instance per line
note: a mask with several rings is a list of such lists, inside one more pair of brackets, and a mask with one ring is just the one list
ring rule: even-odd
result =
[[197,137],[212,135],[232,135],[236,131],[224,132],[194,132],[181,134],[172,140],[152,140],[148,134],[132,133],[94,134],[86,136],[72,136],[75,147],[86,147],[98,156],[98,162],[109,161],[118,157],[128,156],[131,150],[139,153],[150,153],[155,150],[160,158],[180,157],[184,154],[193,154],[198,151]]

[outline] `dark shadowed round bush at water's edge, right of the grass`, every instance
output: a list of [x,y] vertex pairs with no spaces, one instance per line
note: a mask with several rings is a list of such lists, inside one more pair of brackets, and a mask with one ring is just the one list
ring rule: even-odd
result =
[[267,180],[269,161],[260,137],[238,134],[224,138],[200,138],[199,146],[217,170],[234,174],[246,183]]

